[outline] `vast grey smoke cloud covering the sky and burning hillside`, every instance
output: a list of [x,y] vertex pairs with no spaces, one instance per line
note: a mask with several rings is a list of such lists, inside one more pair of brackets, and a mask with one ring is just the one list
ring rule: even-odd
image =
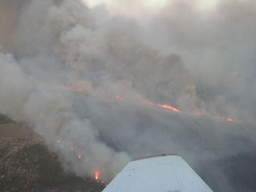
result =
[[[197,166],[255,144],[256,2],[148,2],[0,2],[0,113],[34,127],[66,171],[110,181],[134,157]],[[215,171],[216,189],[235,191]]]

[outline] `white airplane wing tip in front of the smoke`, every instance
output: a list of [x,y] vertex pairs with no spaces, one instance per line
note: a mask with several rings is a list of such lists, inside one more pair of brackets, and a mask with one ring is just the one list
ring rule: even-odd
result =
[[102,192],[212,192],[176,154],[135,158]]

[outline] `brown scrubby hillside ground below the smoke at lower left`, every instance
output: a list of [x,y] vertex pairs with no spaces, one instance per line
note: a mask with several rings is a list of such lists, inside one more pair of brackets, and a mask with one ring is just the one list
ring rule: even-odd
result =
[[64,173],[29,127],[0,114],[0,191],[98,192],[105,185]]

